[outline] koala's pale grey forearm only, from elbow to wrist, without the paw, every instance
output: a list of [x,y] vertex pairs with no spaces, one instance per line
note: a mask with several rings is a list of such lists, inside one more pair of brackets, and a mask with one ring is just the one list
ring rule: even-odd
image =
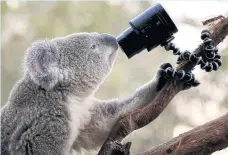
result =
[[166,81],[161,80],[159,72],[153,78],[153,80],[144,84],[138,88],[133,94],[120,99],[111,100],[98,100],[94,99],[95,105],[101,108],[103,115],[109,117],[122,117],[126,116],[130,112],[144,107],[151,103],[156,97],[157,93],[161,90],[161,87]]

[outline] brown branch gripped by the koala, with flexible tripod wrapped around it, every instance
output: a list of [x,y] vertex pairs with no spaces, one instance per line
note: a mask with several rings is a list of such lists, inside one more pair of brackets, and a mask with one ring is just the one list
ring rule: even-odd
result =
[[[208,30],[212,33],[213,44],[218,45],[228,35],[228,17],[218,19],[213,23],[207,24]],[[203,46],[200,45],[195,51],[197,55],[203,53]],[[191,62],[183,62],[177,69],[190,71],[194,68],[195,64]],[[172,81],[166,84],[163,89],[158,93],[157,97],[148,106],[138,109],[128,116],[125,116],[114,125],[110,135],[106,139],[98,155],[114,155],[113,146],[116,142],[121,142],[124,137],[132,131],[137,130],[156,119],[163,110],[168,106],[170,101],[182,90],[182,84]],[[226,116],[227,119],[227,116]],[[215,130],[216,131],[216,130]],[[226,143],[226,147],[228,144]],[[127,147],[128,149],[130,147]],[[124,150],[124,148],[122,148]],[[127,151],[127,150],[126,150]],[[124,152],[124,151],[123,151]],[[128,150],[129,152],[129,150]],[[124,153],[123,153],[124,154]],[[140,154],[145,155],[145,154]],[[179,154],[178,154],[179,155]]]

